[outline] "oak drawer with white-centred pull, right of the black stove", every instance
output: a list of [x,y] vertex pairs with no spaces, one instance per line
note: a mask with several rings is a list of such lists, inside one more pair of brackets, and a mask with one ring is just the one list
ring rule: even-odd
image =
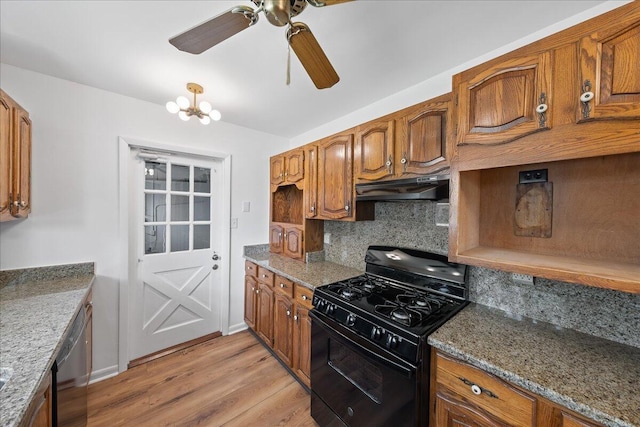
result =
[[436,387],[514,426],[535,425],[535,398],[466,363],[436,354]]

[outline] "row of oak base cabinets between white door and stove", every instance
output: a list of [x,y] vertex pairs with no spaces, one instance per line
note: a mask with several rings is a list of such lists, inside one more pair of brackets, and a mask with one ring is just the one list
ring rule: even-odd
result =
[[249,261],[245,272],[245,322],[310,387],[313,290]]

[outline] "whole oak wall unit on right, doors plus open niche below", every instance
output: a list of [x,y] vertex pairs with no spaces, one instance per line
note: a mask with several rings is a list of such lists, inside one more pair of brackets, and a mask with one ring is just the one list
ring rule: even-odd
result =
[[[638,63],[634,2],[454,76],[451,261],[640,292]],[[548,233],[518,234],[519,173],[538,169]]]

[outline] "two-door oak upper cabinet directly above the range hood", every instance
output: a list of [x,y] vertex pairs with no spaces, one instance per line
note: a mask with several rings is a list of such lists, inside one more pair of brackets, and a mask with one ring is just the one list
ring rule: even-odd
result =
[[451,94],[446,94],[358,126],[356,183],[448,168],[453,142],[451,114]]

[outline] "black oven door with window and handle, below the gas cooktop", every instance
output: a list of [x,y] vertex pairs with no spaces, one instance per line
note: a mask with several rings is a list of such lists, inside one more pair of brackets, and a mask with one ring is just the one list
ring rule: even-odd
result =
[[417,425],[417,368],[311,310],[311,415],[322,427]]

